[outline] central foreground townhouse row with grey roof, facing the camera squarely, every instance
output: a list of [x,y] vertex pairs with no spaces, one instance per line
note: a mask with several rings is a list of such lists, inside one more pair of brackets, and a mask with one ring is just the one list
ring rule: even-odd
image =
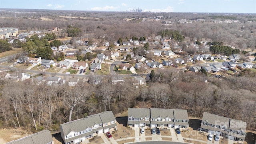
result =
[[132,127],[188,128],[186,110],[161,108],[128,108],[128,122]]

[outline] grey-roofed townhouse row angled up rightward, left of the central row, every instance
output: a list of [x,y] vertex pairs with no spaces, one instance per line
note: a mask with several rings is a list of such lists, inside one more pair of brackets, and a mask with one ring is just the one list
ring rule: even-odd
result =
[[65,144],[76,144],[98,134],[112,132],[116,130],[116,126],[114,114],[106,111],[60,124],[60,133]]

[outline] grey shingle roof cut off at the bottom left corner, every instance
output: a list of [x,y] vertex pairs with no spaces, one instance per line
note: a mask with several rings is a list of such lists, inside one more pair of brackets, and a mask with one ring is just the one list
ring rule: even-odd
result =
[[49,130],[42,130],[6,144],[54,144],[54,141]]

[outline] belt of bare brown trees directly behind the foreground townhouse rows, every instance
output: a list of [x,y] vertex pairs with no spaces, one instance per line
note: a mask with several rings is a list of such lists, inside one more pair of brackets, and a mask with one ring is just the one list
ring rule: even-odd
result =
[[[205,82],[207,80],[207,83]],[[82,81],[82,80],[81,80]],[[190,116],[202,117],[210,112],[247,122],[247,129],[256,129],[256,76],[244,71],[222,80],[205,74],[179,72],[176,69],[156,70],[147,86],[136,87],[133,79],[112,84],[112,76],[94,85],[95,77],[69,87],[36,85],[1,80],[0,125],[25,128],[35,132],[84,116],[112,110],[118,114],[130,107],[185,109]]]

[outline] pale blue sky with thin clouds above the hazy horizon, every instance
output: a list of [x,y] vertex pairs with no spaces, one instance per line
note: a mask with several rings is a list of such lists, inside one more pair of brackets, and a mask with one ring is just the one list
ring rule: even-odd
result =
[[256,13],[256,0],[0,0],[0,8],[150,12]]

